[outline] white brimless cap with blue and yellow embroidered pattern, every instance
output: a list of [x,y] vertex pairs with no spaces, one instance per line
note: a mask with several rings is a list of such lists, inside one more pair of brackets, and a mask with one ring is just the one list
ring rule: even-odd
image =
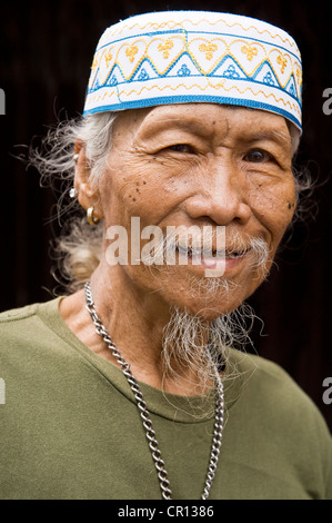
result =
[[230,13],[153,12],[104,31],[84,115],[202,101],[272,111],[301,131],[301,55],[282,29]]

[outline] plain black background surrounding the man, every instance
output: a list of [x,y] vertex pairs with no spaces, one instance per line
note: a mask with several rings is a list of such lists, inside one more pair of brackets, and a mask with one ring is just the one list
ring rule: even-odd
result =
[[[331,130],[323,90],[332,88],[332,16],[328,1],[57,0],[2,1],[0,12],[1,292],[0,310],[44,302],[56,286],[49,243],[61,226],[56,197],[32,168],[14,158],[58,119],[81,112],[92,56],[102,31],[140,12],[165,9],[229,11],[282,27],[296,40],[304,68],[304,136],[298,164],[316,179],[315,217],[296,223],[269,280],[250,303],[264,322],[253,339],[259,354],[281,364],[316,403],[332,428],[322,382],[332,377]],[[64,217],[66,221],[66,217]],[[250,349],[250,347],[249,347]],[[1,368],[0,368],[1,371]],[[1,373],[0,373],[1,374]],[[330,394],[332,398],[332,393]]]

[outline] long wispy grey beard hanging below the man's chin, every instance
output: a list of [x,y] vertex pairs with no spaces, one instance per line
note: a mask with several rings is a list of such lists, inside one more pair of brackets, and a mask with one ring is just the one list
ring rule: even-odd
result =
[[219,371],[228,365],[230,348],[244,349],[255,318],[253,309],[242,304],[230,314],[208,322],[179,307],[171,308],[171,318],[163,332],[162,361],[164,378],[188,376],[187,386],[197,385],[197,393],[209,389]]

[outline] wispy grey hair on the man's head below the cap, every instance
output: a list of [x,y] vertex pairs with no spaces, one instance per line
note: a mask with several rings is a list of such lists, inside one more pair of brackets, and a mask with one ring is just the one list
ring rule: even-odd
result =
[[[58,262],[53,276],[68,292],[82,288],[90,279],[101,258],[103,234],[102,223],[92,228],[82,215],[79,204],[77,201],[68,204],[67,196],[73,185],[76,170],[74,145],[80,141],[84,147],[90,168],[90,182],[97,187],[110,152],[117,115],[117,112],[103,112],[60,122],[56,129],[50,129],[43,139],[42,152],[38,149],[30,150],[30,165],[39,170],[41,184],[52,185],[54,179],[61,180],[59,217],[67,211],[76,211],[76,216],[71,216],[68,220],[64,233],[53,244],[54,258]],[[292,125],[289,125],[289,128],[294,158],[299,146],[299,131]],[[312,184],[306,169],[298,171],[294,168],[293,171],[298,195],[296,216],[302,217],[300,194],[308,193]]]

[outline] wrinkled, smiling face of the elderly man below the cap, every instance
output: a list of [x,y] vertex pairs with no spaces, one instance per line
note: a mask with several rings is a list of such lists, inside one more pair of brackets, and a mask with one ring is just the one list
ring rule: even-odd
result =
[[[163,231],[169,226],[224,226],[221,278],[231,290],[211,293],[203,262],[154,267],[130,265],[129,257],[129,265],[117,270],[142,299],[153,294],[161,304],[207,318],[235,309],[266,276],[292,219],[291,156],[284,118],[266,111],[183,103],[119,115],[99,186],[105,228],[130,231],[132,217],[140,218],[141,230],[151,225]],[[238,249],[235,234],[242,240]],[[263,270],[253,265],[249,238],[268,244]]]

